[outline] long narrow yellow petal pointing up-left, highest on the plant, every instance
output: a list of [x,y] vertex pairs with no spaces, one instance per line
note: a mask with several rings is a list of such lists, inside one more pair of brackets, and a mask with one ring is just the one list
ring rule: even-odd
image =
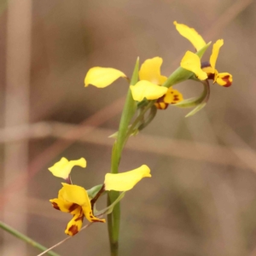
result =
[[174,21],[173,24],[176,26],[177,31],[184,37],[189,40],[191,44],[194,45],[195,49],[198,51],[206,45],[205,40],[201,35],[195,31],[194,28],[186,26],[184,24],[179,24],[177,21]]

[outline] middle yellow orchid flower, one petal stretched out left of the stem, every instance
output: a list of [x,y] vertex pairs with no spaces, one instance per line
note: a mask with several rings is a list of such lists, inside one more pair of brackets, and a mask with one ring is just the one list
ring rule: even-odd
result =
[[[148,100],[158,100],[166,93],[171,93],[176,96],[175,101],[163,102],[167,104],[175,104],[183,100],[182,94],[178,90],[168,89],[160,85],[166,81],[166,77],[160,74],[160,67],[162,65],[162,58],[154,57],[143,62],[139,71],[140,81],[137,84],[131,85],[131,94],[135,101],[142,102],[144,98]],[[120,72],[114,68],[108,67],[92,67],[86,74],[84,79],[85,86],[92,84],[97,88],[104,88],[112,84],[116,79],[127,78],[125,73]],[[164,97],[165,98],[165,97]],[[174,99],[174,97],[173,97]],[[161,99],[162,101],[162,99]],[[160,108],[159,104],[155,104]]]

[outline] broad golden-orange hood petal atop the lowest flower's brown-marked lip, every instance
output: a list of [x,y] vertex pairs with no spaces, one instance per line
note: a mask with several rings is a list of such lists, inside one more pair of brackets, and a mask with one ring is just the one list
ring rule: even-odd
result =
[[79,206],[90,205],[90,200],[86,190],[77,185],[62,183],[63,187],[59,191],[59,198],[67,202],[73,202]]

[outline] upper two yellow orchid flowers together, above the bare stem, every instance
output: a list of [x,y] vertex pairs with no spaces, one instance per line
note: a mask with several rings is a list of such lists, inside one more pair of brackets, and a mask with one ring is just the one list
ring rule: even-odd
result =
[[[177,32],[184,38],[187,38],[196,50],[195,53],[187,51],[185,55],[183,55],[183,59],[180,62],[181,68],[178,70],[179,73],[172,73],[178,77],[175,84],[187,79],[205,81],[206,84],[209,79],[212,79],[213,84],[217,83],[224,87],[229,87],[233,81],[232,75],[230,73],[218,73],[218,70],[215,68],[219,49],[223,46],[224,40],[218,39],[217,42],[213,44],[210,61],[201,62],[202,55],[212,42],[207,44],[194,28],[179,24],[177,21],[174,21],[174,25],[176,26]],[[154,57],[143,62],[139,71],[139,81],[136,84],[130,85],[134,101],[154,101],[154,106],[156,108],[166,109],[169,104],[181,108],[190,108],[199,105],[203,100],[208,100],[208,97],[204,97],[201,101],[199,99],[194,102],[191,101],[191,99],[183,101],[183,95],[178,90],[172,89],[174,83],[172,83],[170,79],[173,76],[171,75],[168,79],[166,76],[161,75],[160,67],[162,62],[163,60],[160,57]],[[188,71],[190,73],[188,73]],[[97,88],[104,88],[119,78],[129,80],[125,73],[117,69],[109,67],[93,67],[90,68],[89,72],[86,74],[84,84],[85,86],[92,84]],[[208,94],[209,91],[207,91],[205,96],[208,96]]]

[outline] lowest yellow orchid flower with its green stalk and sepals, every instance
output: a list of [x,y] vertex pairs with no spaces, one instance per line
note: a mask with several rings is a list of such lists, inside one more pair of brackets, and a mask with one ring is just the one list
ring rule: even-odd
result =
[[69,212],[73,215],[73,218],[67,224],[65,230],[65,233],[69,236],[74,236],[79,232],[84,217],[90,222],[106,222],[104,218],[97,217],[111,213],[114,205],[124,197],[124,194],[120,195],[109,207],[102,211],[96,211],[96,201],[105,191],[128,191],[143,177],[151,177],[148,166],[143,165],[130,172],[117,174],[107,173],[102,185],[97,185],[92,189],[86,190],[78,185],[73,185],[70,175],[73,166],[85,168],[86,160],[81,158],[79,160],[68,161],[66,158],[62,157],[54,166],[49,167],[49,172],[55,177],[63,178],[67,182],[61,183],[62,188],[59,191],[58,198],[51,199],[50,202],[56,210]]

